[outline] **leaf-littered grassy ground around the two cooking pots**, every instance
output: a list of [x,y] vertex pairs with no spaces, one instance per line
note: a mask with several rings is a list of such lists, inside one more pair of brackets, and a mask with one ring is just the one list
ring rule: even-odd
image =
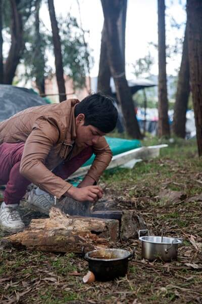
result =
[[[145,144],[155,144],[153,140]],[[159,142],[158,142],[159,143]],[[202,302],[202,163],[195,141],[177,141],[161,157],[137,163],[132,170],[104,174],[100,184],[119,208],[137,209],[149,230],[183,237],[178,261],[147,262],[139,241],[118,244],[136,248],[126,277],[114,282],[82,283],[88,265],[74,254],[0,252],[1,303],[201,303]],[[181,194],[166,199],[162,191]],[[176,193],[175,193],[176,194]],[[22,207],[24,220],[40,216]],[[3,236],[3,234],[2,234]]]

